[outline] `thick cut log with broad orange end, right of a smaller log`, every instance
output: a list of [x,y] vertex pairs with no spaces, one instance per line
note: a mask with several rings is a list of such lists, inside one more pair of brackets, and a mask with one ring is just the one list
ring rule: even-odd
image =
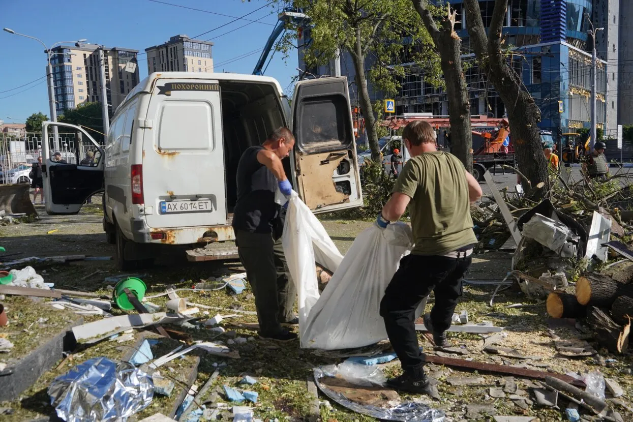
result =
[[598,273],[581,276],[576,283],[576,297],[581,305],[610,308],[620,296],[633,297],[633,284],[618,283]]

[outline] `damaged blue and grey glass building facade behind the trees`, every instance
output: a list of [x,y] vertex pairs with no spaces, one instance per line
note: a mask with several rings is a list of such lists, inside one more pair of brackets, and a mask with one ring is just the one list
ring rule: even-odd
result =
[[[627,59],[633,53],[633,34],[627,34],[623,25],[627,10],[633,11],[628,0],[508,0],[506,23],[503,28],[504,45],[511,46],[508,56],[511,66],[521,75],[523,85],[534,97],[541,109],[540,127],[553,133],[574,132],[589,128],[591,120],[591,49],[592,39],[587,34],[590,27],[585,13],[591,16],[598,31],[597,118],[598,127],[605,137],[615,137],[617,125],[631,123],[633,98],[626,92],[618,96],[618,81],[631,85],[630,72],[633,62]],[[456,32],[463,44],[463,59],[473,60],[470,37],[467,30],[466,11],[462,0],[451,1],[458,22]],[[628,1],[628,3],[633,3]],[[484,25],[489,26],[494,0],[480,1]],[[310,30],[304,30],[309,39]],[[301,44],[301,43],[300,43]],[[628,46],[628,47],[627,47]],[[630,61],[630,60],[629,60]],[[433,113],[448,115],[448,99],[441,88],[424,81],[423,69],[408,58],[406,75],[401,80],[401,90],[396,96],[396,115],[404,113]],[[618,66],[618,63],[623,65]],[[316,77],[332,75],[333,63],[308,69]],[[372,66],[368,57],[367,68]],[[299,49],[299,67],[306,70],[303,51]],[[354,87],[354,66],[349,54],[341,56],[341,72],[347,75],[351,90]],[[506,116],[505,105],[487,81],[485,72],[472,63],[466,72],[470,95],[471,114],[494,118]],[[625,81],[629,82],[625,82]],[[627,86],[628,86],[627,85]],[[369,87],[372,101],[383,99],[382,93]]]

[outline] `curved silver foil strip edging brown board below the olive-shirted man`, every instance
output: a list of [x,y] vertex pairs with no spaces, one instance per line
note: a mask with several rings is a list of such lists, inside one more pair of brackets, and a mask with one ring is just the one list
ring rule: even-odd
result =
[[[380,370],[380,369],[378,369]],[[327,385],[320,382],[320,380],[326,376],[336,376],[338,374],[337,366],[322,366],[321,368],[314,368],[313,373],[315,376],[316,386],[327,395],[330,399],[334,400],[343,407],[348,409],[367,414],[385,421],[400,421],[400,422],[443,422],[444,413],[437,409],[431,409],[422,403],[415,402],[403,402],[394,407],[384,408],[372,405],[362,405],[351,400],[348,400],[344,395],[334,390],[327,388]]]

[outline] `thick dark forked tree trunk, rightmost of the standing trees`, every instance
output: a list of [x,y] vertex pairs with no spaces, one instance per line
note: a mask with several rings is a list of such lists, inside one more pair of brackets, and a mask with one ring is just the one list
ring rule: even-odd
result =
[[[523,86],[520,76],[508,66],[505,53],[501,49],[501,30],[508,0],[496,0],[489,37],[486,36],[479,1],[464,0],[464,6],[470,45],[479,59],[479,66],[487,70],[488,80],[494,85],[507,109],[518,168],[529,179],[532,186],[546,182],[548,168],[537,126],[537,123],[541,121],[541,111]],[[523,180],[523,188],[526,191],[530,189],[525,180]]]

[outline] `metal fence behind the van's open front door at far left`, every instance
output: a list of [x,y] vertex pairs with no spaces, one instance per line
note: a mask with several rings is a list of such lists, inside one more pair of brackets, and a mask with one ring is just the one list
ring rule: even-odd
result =
[[[53,133],[49,133],[48,145],[49,158],[54,159],[54,154],[60,152],[61,158],[68,164],[79,164],[88,157],[88,151],[96,152],[94,144],[82,137],[80,132],[58,133],[59,149],[55,149]],[[0,171],[13,170],[21,165],[30,166],[42,153],[41,132],[27,132],[18,136],[0,133]]]

